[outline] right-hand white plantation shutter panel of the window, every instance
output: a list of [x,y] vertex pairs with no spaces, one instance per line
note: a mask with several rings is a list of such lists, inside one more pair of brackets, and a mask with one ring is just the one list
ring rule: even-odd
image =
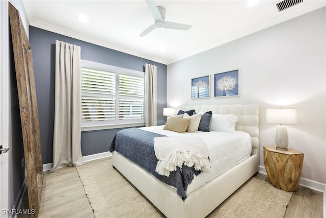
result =
[[119,120],[144,119],[144,78],[119,74]]

